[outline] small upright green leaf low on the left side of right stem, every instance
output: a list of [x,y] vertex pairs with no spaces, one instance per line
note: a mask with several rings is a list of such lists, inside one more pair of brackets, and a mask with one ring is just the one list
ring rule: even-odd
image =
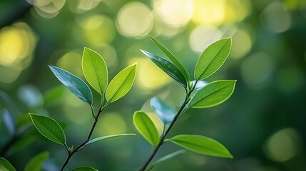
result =
[[133,115],[133,123],[143,138],[145,138],[151,145],[157,146],[160,140],[158,130],[151,118],[143,111],[136,111]]

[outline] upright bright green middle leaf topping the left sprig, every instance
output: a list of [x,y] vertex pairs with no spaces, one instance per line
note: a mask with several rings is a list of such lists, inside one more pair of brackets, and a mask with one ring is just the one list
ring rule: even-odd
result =
[[93,89],[103,94],[108,83],[108,71],[103,58],[95,51],[84,48],[82,69],[86,80]]

